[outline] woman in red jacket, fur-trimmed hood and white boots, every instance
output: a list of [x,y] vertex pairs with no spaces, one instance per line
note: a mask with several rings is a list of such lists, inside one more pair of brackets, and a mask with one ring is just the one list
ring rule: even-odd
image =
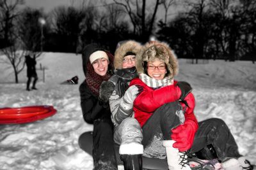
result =
[[218,159],[227,169],[250,168],[223,120],[197,122],[190,85],[173,79],[178,62],[170,46],[159,41],[147,43],[136,57],[136,69],[139,78],[131,81],[129,89],[143,89],[134,100],[133,110],[143,131],[145,156],[166,157],[169,169],[174,170],[193,169],[187,153]]

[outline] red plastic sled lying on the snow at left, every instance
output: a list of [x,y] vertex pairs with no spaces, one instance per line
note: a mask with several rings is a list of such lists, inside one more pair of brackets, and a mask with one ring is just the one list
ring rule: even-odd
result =
[[53,106],[0,108],[0,124],[25,124],[51,117],[57,112]]

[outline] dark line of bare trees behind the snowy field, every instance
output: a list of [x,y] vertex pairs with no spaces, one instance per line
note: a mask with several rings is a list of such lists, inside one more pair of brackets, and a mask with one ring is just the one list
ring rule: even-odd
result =
[[[0,47],[29,52],[81,53],[88,43],[101,43],[111,52],[118,41],[141,43],[154,35],[190,59],[256,58],[256,1],[145,0],[111,1],[93,6],[59,6],[49,13],[22,8],[22,0],[0,0]],[[109,3],[109,1],[108,1]],[[170,9],[182,10],[169,16]],[[164,17],[157,18],[159,9]],[[172,17],[172,18],[170,18]],[[44,18],[45,24],[38,22]]]

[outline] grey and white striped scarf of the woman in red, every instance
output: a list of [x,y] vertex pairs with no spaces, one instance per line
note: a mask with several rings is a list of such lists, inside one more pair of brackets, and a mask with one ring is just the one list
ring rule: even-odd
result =
[[152,87],[154,89],[173,84],[173,79],[170,79],[169,76],[163,78],[162,80],[156,80],[154,78],[151,78],[147,74],[141,73],[140,80],[143,81],[143,83],[145,83],[146,85],[148,85],[148,87]]

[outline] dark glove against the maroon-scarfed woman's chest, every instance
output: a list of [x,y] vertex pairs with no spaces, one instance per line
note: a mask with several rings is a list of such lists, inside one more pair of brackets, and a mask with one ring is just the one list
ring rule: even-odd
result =
[[115,85],[111,81],[102,81],[99,89],[99,100],[108,103],[109,97],[115,90]]

